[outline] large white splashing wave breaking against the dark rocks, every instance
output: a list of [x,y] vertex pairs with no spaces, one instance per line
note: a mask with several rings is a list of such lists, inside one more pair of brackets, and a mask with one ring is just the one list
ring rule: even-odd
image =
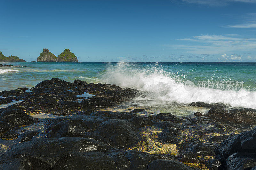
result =
[[108,68],[101,76],[103,82],[116,84],[120,87],[138,89],[150,99],[149,104],[162,103],[224,103],[231,107],[244,107],[256,109],[256,91],[197,89],[186,90],[182,76],[165,72],[159,67],[138,68],[133,64],[119,63]]

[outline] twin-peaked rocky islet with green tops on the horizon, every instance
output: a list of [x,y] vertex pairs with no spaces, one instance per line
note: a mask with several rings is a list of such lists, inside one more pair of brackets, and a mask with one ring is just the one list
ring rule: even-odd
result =
[[43,52],[37,58],[37,62],[78,62],[77,57],[69,49],[65,49],[58,58],[48,49],[44,48]]

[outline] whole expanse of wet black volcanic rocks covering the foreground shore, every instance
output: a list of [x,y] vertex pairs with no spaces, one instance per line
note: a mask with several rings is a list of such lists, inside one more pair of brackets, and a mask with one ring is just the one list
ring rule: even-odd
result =
[[[58,78],[2,91],[0,169],[256,169],[256,110],[222,103],[190,117],[105,111],[141,93]],[[46,115],[46,116],[45,116]]]

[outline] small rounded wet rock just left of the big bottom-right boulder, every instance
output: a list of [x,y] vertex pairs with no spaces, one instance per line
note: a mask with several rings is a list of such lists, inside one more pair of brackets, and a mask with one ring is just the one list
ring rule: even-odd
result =
[[215,147],[205,143],[192,145],[189,151],[203,157],[215,156]]

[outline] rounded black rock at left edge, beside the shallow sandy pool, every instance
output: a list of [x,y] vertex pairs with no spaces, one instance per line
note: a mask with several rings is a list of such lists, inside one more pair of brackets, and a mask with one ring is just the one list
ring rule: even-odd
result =
[[0,110],[0,120],[10,124],[11,126],[23,126],[36,123],[37,118],[28,116],[24,111],[19,109],[3,109]]

